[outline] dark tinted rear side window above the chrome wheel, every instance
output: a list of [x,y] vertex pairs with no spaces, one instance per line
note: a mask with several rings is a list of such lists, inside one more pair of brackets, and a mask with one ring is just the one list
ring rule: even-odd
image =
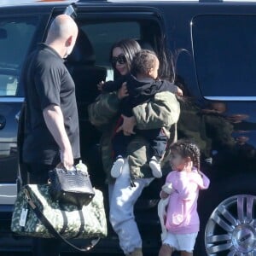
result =
[[256,95],[256,15],[201,15],[192,25],[203,96]]

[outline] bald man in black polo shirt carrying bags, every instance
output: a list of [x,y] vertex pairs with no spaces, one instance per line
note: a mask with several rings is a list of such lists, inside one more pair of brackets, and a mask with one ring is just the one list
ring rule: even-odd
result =
[[[68,15],[52,21],[45,43],[27,58],[20,83],[25,89],[26,124],[22,166],[27,183],[47,183],[48,172],[60,162],[67,168],[80,157],[79,118],[75,84],[63,63],[78,36],[78,26]],[[34,239],[34,256],[58,256],[55,239]]]

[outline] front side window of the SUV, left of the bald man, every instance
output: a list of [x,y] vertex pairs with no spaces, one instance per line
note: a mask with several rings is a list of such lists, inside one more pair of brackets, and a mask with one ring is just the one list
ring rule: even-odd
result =
[[18,96],[20,67],[32,41],[37,17],[0,19],[0,96]]

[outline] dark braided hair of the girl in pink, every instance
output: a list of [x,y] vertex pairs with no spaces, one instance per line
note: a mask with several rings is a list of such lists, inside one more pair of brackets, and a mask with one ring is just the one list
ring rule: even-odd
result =
[[172,144],[171,150],[177,151],[183,158],[190,157],[193,165],[200,170],[200,149],[195,143],[186,140],[179,140],[177,143]]

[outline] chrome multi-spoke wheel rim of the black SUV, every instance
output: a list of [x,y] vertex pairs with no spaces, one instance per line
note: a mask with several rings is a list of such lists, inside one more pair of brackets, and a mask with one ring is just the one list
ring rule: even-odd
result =
[[234,195],[212,212],[205,230],[207,255],[256,256],[256,196]]

